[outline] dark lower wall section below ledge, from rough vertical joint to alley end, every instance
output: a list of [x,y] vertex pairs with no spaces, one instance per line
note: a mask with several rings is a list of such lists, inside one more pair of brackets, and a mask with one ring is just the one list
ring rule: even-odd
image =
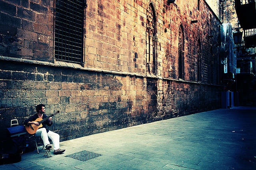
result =
[[158,90],[162,104],[159,112],[165,118],[172,118],[216,109],[220,105],[219,95],[219,86],[163,80],[162,90]]

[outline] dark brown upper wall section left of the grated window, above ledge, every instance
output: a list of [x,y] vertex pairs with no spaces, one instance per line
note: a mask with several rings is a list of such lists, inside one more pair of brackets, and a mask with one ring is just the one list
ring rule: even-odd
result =
[[0,55],[53,61],[52,2],[0,1]]

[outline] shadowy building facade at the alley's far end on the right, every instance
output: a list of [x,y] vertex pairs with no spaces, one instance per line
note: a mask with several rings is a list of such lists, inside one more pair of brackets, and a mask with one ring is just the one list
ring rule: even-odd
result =
[[[238,18],[236,13],[235,3],[241,4],[242,6],[248,6],[248,9],[240,10],[241,13],[246,16],[248,20],[244,21],[244,18]],[[251,7],[251,8],[250,8]],[[240,6],[238,7],[240,8]],[[254,10],[251,10],[254,9]],[[239,104],[240,106],[256,106],[255,94],[256,94],[256,47],[246,45],[246,38],[250,37],[251,33],[254,32],[256,28],[251,27],[250,29],[241,27],[241,23],[255,23],[254,20],[250,18],[255,18],[255,1],[246,0],[220,0],[220,20],[223,23],[230,23],[232,25],[233,33],[236,29],[243,32],[242,44],[236,45],[236,68],[239,72],[235,73],[235,82],[232,83],[229,90],[239,93]],[[252,38],[254,44],[256,43],[255,38]],[[253,42],[252,41],[252,42]],[[246,47],[247,46],[247,47]]]

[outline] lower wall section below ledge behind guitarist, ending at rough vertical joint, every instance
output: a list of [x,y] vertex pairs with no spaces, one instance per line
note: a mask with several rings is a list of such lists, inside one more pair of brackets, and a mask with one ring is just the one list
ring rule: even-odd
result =
[[39,103],[48,114],[60,110],[50,129],[62,140],[155,119],[155,79],[13,61],[0,66],[1,134],[13,118],[22,124]]

